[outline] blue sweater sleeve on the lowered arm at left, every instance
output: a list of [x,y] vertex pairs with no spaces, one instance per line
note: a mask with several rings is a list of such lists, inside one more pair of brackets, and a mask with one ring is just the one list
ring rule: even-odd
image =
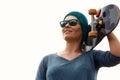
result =
[[47,71],[47,57],[44,57],[41,60],[41,63],[38,67],[36,80],[46,80],[46,71]]

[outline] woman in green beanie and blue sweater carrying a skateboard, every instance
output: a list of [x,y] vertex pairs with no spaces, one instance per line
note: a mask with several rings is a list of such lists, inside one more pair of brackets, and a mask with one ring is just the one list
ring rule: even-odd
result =
[[36,80],[97,80],[99,68],[120,62],[120,42],[112,32],[107,36],[110,51],[84,51],[90,27],[82,13],[68,13],[60,25],[66,47],[42,59]]

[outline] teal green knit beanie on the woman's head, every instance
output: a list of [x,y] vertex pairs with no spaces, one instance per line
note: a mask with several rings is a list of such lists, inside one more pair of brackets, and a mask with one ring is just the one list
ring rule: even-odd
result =
[[78,19],[79,23],[81,24],[81,27],[82,27],[82,40],[81,40],[81,44],[82,44],[83,42],[86,42],[86,39],[87,39],[87,36],[88,36],[88,32],[90,31],[90,26],[88,25],[87,18],[81,12],[72,11],[72,12],[68,13],[64,17],[64,19],[67,16],[70,16],[70,15],[71,16],[75,16]]

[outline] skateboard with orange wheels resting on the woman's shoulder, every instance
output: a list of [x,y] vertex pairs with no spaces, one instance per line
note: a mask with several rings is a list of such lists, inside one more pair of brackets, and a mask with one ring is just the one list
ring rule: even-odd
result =
[[114,4],[109,4],[99,11],[90,9],[88,13],[91,15],[89,24],[91,31],[88,33],[85,51],[95,48],[105,36],[116,28],[120,20],[119,7]]

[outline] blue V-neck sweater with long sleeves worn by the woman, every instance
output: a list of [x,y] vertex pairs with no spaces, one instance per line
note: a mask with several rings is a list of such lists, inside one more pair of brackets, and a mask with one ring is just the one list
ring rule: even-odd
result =
[[42,59],[36,80],[97,80],[100,67],[115,66],[119,62],[120,57],[109,51],[91,50],[73,60],[49,54]]

